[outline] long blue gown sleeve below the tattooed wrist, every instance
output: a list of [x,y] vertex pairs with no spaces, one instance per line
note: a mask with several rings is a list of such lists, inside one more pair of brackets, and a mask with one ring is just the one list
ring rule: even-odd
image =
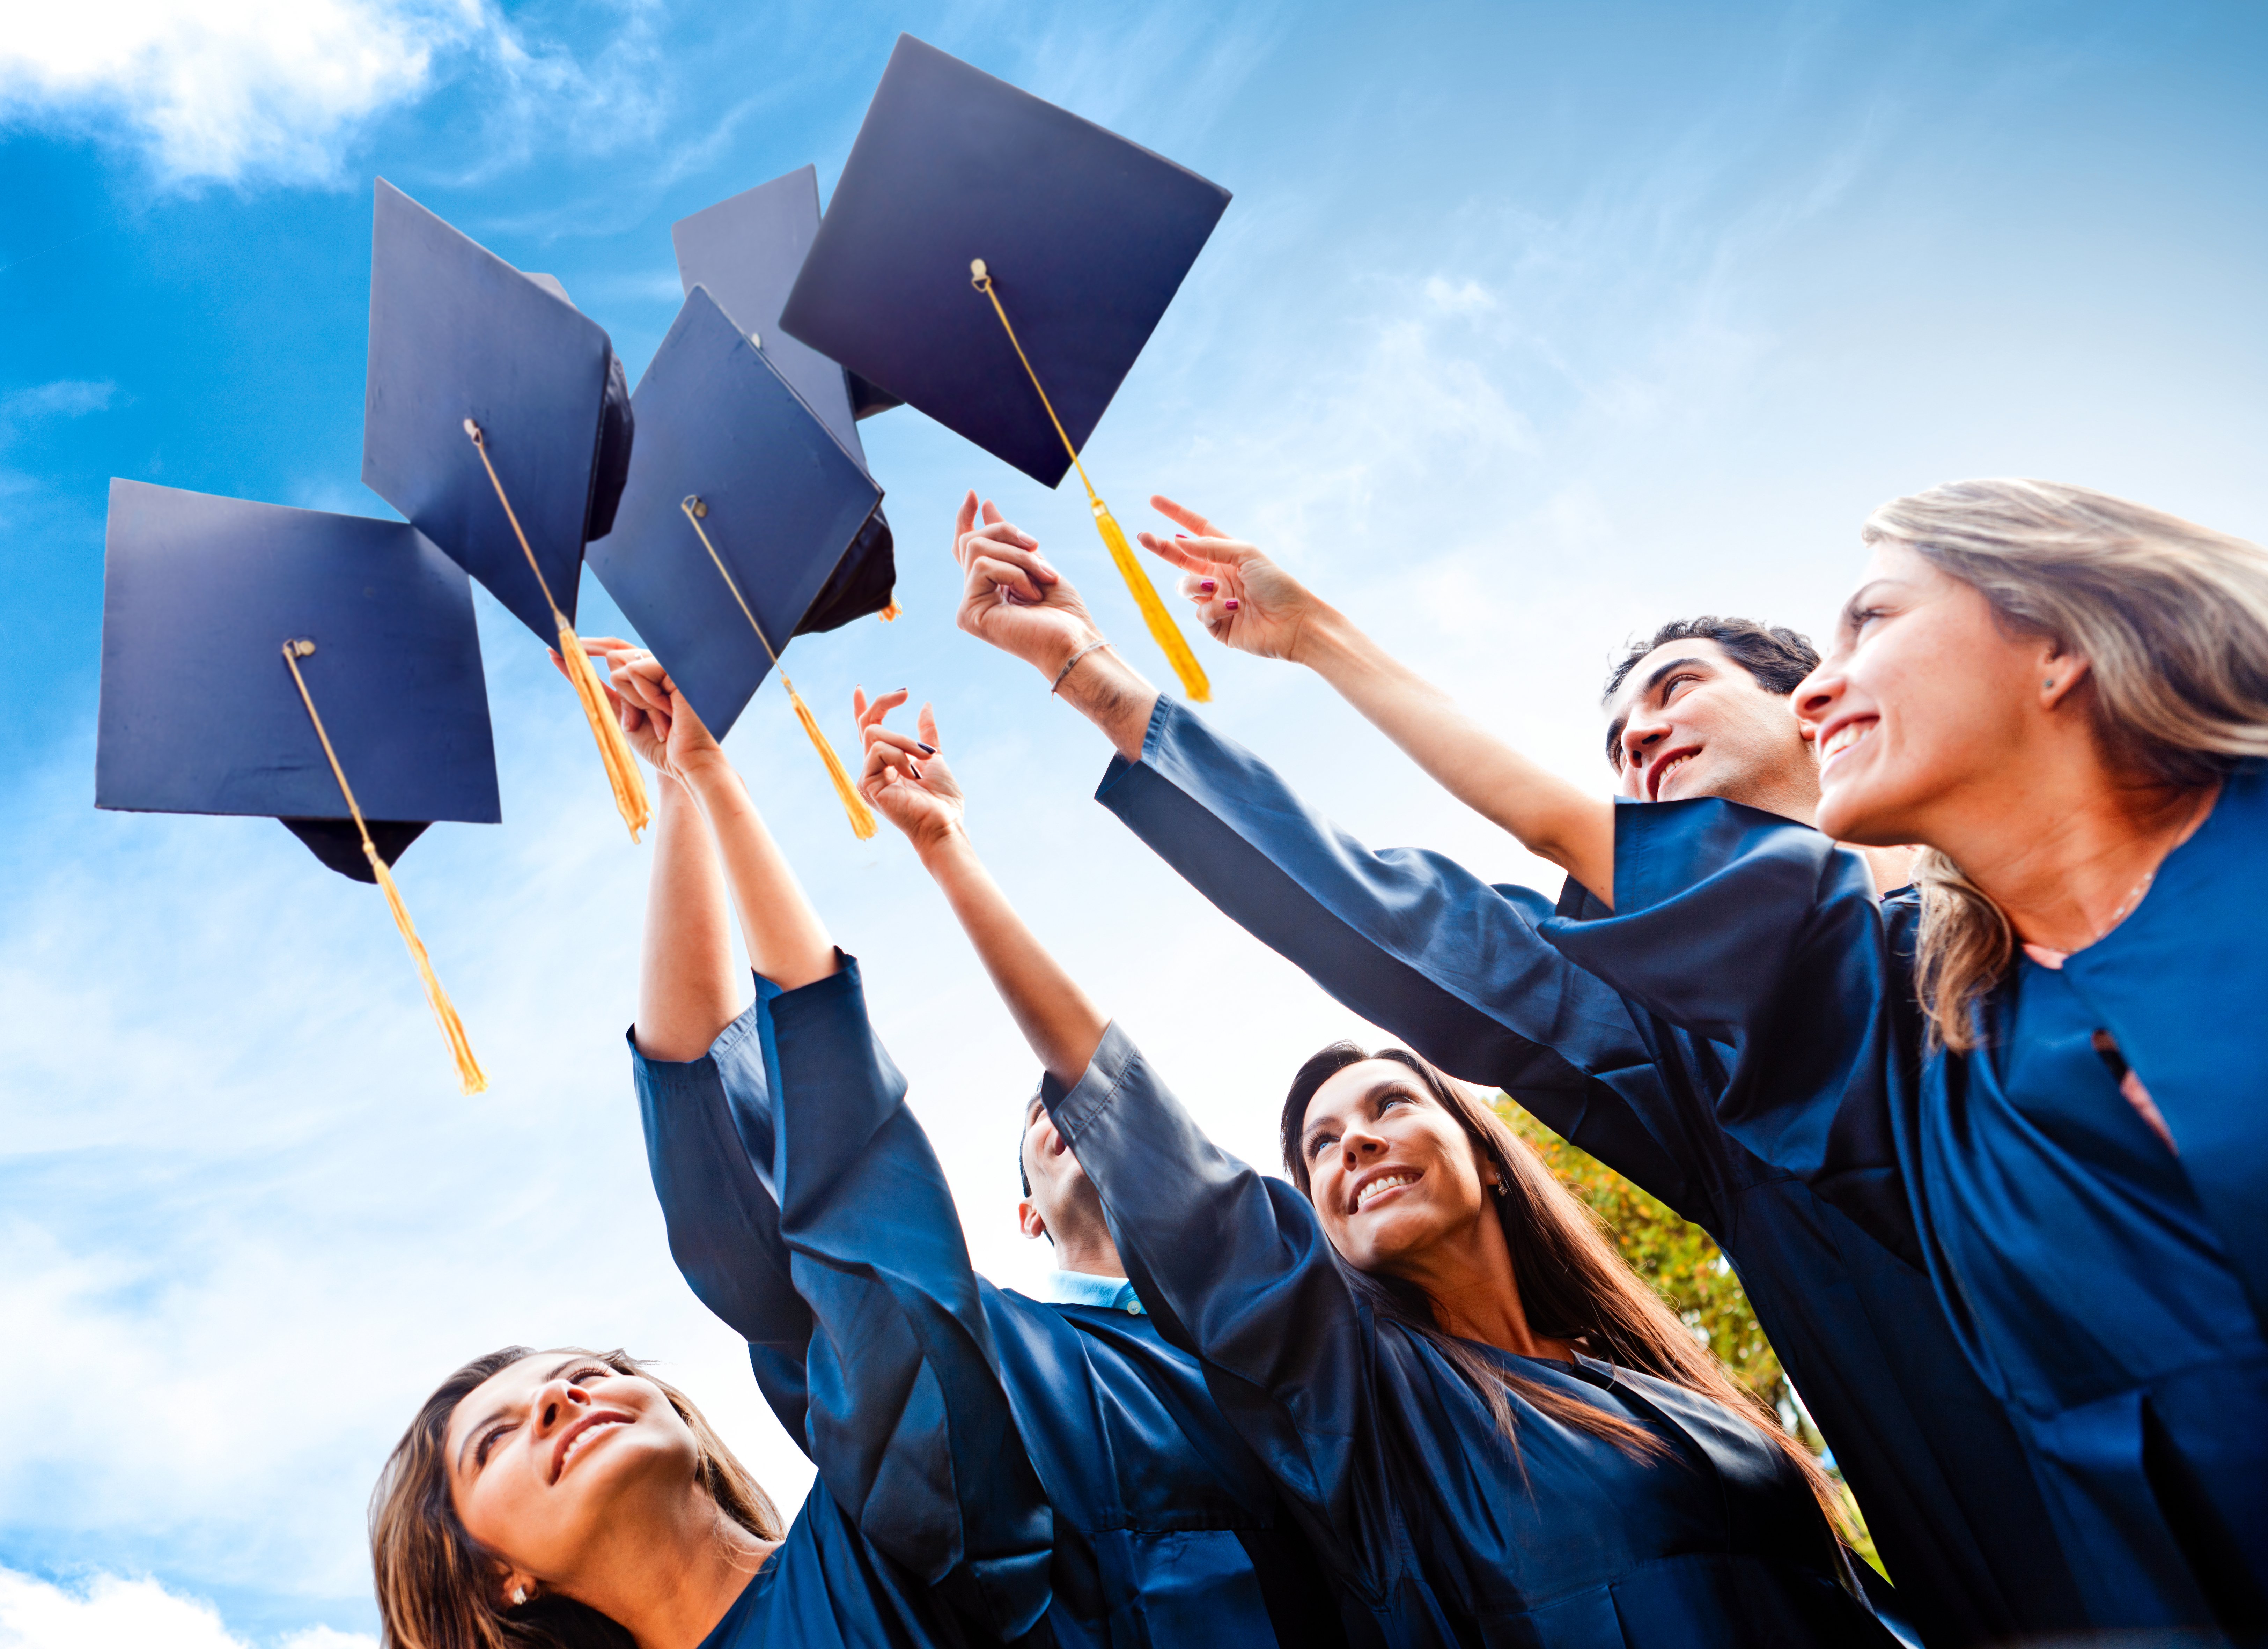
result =
[[1542,894],[1438,853],[1365,848],[1166,696],[1141,762],[1114,758],[1095,801],[1345,1007],[1501,1086],[1681,1216],[1715,1214],[1706,1179],[1644,1121],[1665,1100],[1628,1005],[1545,941]]

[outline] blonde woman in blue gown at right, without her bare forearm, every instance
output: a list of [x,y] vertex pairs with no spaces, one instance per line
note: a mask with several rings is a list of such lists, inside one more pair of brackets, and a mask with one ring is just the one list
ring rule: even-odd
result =
[[[1574,962],[1916,1252],[2102,1629],[2268,1633],[2268,553],[2041,481],[1867,522],[1819,830],[1622,807]],[[1857,844],[1921,844],[1878,903]]]

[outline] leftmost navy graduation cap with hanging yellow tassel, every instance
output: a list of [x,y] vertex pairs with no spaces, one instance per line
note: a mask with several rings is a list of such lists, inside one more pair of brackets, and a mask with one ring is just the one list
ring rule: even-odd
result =
[[472,585],[415,526],[111,481],[95,805],[274,817],[376,882],[488,1086],[392,878],[429,823],[503,817]]

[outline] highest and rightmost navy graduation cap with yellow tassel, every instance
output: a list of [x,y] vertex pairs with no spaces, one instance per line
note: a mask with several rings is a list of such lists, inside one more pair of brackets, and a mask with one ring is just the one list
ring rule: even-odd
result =
[[1073,467],[1191,699],[1211,690],[1080,449],[1229,193],[912,34],[780,329],[1043,485]]

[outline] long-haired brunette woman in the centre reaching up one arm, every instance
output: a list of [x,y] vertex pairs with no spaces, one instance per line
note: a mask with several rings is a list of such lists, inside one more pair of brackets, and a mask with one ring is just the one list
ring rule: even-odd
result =
[[1281,1483],[1349,1640],[1892,1642],[1810,1456],[1497,1118],[1411,1055],[1331,1048],[1286,1102],[1304,1191],[1222,1155],[991,882],[934,733],[885,712],[866,796],[953,903],[1139,1295]]

